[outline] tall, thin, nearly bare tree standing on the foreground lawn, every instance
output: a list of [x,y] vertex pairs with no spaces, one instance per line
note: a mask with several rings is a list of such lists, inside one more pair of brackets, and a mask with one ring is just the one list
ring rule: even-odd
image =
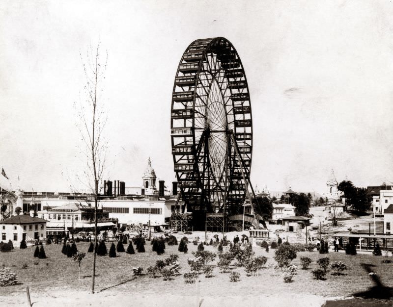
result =
[[86,58],[80,52],[86,84],[84,85],[85,99],[80,100],[78,116],[80,119],[78,128],[84,142],[84,156],[86,158],[86,170],[83,179],[78,177],[81,183],[92,191],[94,198],[94,253],[91,273],[91,293],[94,293],[96,246],[97,246],[97,208],[102,186],[102,176],[105,169],[108,143],[103,136],[103,130],[107,122],[107,113],[102,100],[102,82],[107,69],[108,52],[105,62],[102,63],[100,56],[100,42],[97,49],[90,48],[86,52]]

